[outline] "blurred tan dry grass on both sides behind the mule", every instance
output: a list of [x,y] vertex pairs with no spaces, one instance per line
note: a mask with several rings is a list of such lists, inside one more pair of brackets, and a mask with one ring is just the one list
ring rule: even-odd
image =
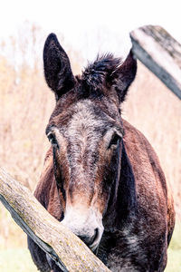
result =
[[[73,70],[80,71],[71,51]],[[49,146],[45,126],[54,106],[40,65],[19,70],[0,57],[0,161],[15,179],[34,189]],[[139,63],[123,116],[142,131],[156,149],[167,181],[172,184],[176,212],[181,199],[181,102]],[[0,207],[0,248],[25,247],[25,235]]]

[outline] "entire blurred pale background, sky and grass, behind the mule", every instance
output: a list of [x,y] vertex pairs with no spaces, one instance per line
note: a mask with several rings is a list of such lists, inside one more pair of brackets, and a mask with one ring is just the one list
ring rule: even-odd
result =
[[[26,187],[35,188],[49,147],[45,126],[54,97],[43,79],[43,44],[57,34],[81,73],[97,53],[123,59],[129,32],[159,24],[181,43],[179,1],[1,1],[0,166]],[[142,131],[157,151],[173,189],[176,229],[166,271],[181,271],[181,101],[141,63],[123,117]],[[26,236],[0,203],[0,271],[35,272]]]

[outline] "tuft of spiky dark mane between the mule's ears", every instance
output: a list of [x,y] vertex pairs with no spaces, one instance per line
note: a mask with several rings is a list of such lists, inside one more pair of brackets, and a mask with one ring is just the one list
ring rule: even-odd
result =
[[112,53],[97,56],[93,63],[89,63],[82,73],[81,81],[87,92],[102,91],[103,87],[111,82],[114,72],[122,63],[120,58],[115,58]]

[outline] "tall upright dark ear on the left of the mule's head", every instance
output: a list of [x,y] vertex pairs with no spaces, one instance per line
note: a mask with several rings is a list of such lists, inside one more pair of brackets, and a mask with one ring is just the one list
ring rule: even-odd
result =
[[44,44],[43,65],[46,83],[55,92],[56,101],[75,84],[68,55],[55,34],[50,34]]

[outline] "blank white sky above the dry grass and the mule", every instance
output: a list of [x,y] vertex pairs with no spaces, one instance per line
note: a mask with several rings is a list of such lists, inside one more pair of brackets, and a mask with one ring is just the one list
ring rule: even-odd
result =
[[[91,58],[129,52],[129,31],[160,24],[181,43],[181,0],[0,0],[0,39],[33,22]],[[100,42],[98,41],[100,40]]]

